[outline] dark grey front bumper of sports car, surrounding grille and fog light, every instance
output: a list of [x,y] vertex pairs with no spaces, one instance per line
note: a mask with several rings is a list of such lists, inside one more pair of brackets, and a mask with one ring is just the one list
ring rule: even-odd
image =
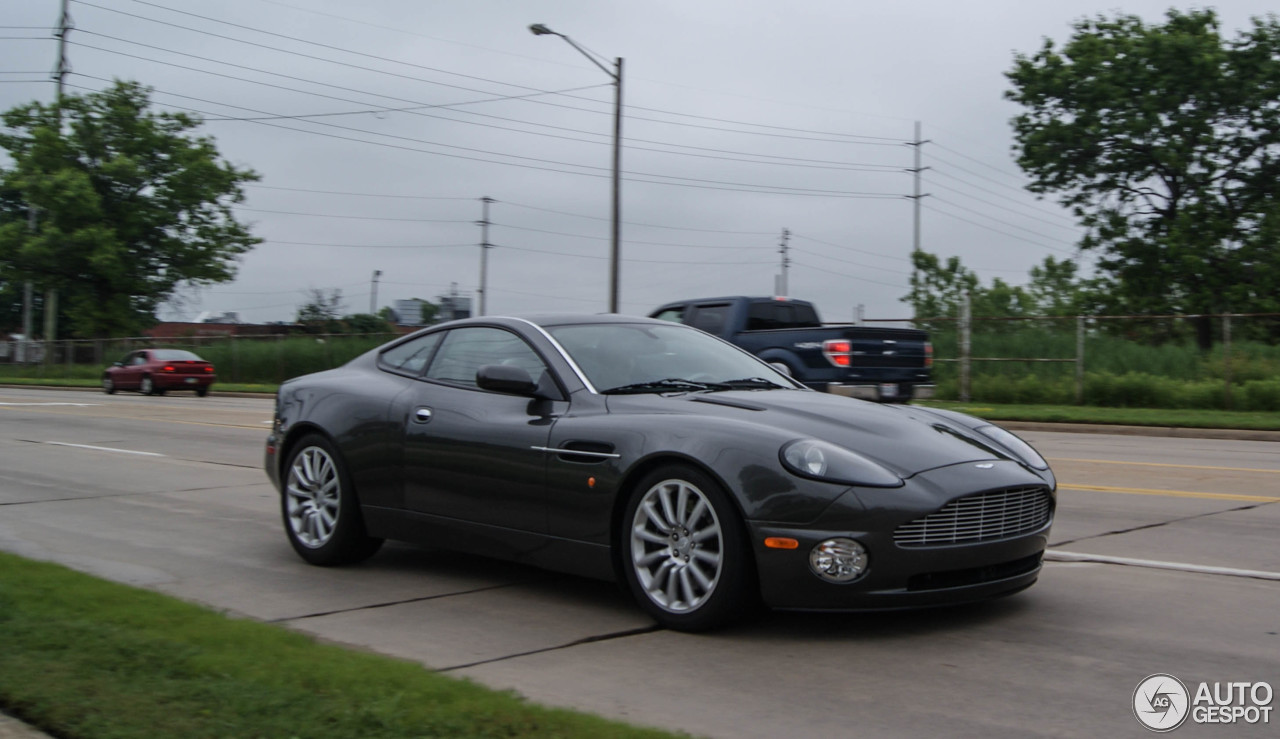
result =
[[[904,488],[850,489],[809,525],[749,521],[762,598],[774,608],[874,611],[1016,593],[1039,576],[1052,507],[1043,525],[991,540],[902,546],[895,530],[951,501],[991,491],[1038,485],[1052,501],[1053,482],[1048,478],[1015,462],[997,462],[989,469],[954,465],[916,475]],[[799,546],[769,548],[764,546],[767,538],[795,539]],[[867,548],[868,567],[859,579],[829,583],[809,567],[810,551],[831,538],[851,538]]]

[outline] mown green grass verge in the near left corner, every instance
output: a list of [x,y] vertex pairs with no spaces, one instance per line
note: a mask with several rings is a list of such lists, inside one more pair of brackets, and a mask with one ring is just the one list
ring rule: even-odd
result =
[[8,553],[0,708],[65,739],[673,736]]

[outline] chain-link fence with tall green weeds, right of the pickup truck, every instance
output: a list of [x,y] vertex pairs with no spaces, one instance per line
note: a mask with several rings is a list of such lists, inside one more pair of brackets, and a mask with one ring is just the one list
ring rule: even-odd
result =
[[1280,410],[1280,314],[993,318],[961,310],[908,323],[929,330],[942,398]]

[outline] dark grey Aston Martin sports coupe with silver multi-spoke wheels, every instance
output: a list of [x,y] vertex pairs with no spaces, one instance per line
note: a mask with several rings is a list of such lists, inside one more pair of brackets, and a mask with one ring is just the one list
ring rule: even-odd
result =
[[453,321],[292,379],[265,464],[307,562],[384,539],[518,560],[621,580],[682,630],[1015,593],[1056,501],[1005,429],[617,315]]

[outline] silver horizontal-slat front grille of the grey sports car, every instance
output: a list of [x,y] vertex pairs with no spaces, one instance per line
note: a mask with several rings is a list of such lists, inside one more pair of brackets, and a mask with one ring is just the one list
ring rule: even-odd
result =
[[942,547],[1009,539],[1044,528],[1053,510],[1043,487],[1007,488],[956,498],[893,532],[900,547]]

